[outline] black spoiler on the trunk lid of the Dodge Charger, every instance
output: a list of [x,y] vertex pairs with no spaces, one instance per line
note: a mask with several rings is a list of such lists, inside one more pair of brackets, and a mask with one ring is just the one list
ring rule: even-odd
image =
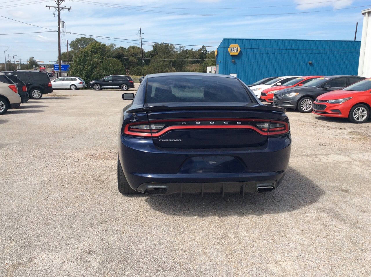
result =
[[[251,105],[253,104],[253,105]],[[272,111],[285,113],[286,109],[275,107],[275,106],[266,106],[258,105],[256,103],[250,103],[250,105],[237,106],[237,105],[205,105],[205,106],[147,106],[141,108],[129,109],[127,113],[136,113],[136,112],[160,112],[160,111],[187,111],[187,110],[235,110],[235,111]]]

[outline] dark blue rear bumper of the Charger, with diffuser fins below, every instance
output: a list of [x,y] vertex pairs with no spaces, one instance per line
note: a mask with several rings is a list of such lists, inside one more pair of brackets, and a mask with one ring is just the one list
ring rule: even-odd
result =
[[[257,192],[257,187],[277,188],[285,176],[290,149],[290,135],[270,137],[265,145],[248,149],[158,148],[152,139],[121,135],[119,159],[129,185],[140,192],[243,193]],[[202,170],[200,163],[193,163],[201,159],[211,164],[223,157],[226,161],[215,168]],[[155,188],[161,193],[153,192]]]

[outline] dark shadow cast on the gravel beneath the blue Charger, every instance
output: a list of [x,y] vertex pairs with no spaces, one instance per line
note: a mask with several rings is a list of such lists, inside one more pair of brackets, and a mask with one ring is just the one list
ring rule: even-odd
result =
[[227,217],[290,212],[318,201],[325,191],[295,169],[288,168],[282,184],[274,192],[262,194],[145,195],[154,210],[181,217]]

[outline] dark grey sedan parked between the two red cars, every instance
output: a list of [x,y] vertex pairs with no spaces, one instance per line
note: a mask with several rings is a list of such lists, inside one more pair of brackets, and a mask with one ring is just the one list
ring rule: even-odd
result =
[[365,79],[359,76],[326,76],[312,80],[295,88],[282,89],[273,96],[273,105],[281,108],[298,109],[299,112],[312,112],[313,101],[329,90],[343,89]]

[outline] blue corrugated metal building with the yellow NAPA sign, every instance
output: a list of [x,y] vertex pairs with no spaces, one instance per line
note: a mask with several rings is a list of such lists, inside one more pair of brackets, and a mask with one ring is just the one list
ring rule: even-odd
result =
[[[230,55],[231,44],[238,44],[238,55]],[[246,84],[273,76],[357,75],[360,48],[349,40],[223,39],[216,73],[236,74]]]

